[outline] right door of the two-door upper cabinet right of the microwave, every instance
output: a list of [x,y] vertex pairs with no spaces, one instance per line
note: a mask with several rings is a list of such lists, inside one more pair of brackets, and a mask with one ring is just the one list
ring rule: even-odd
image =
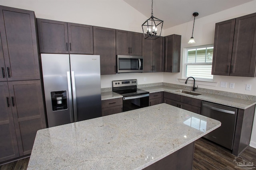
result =
[[153,40],[153,72],[163,71],[163,44],[163,37]]

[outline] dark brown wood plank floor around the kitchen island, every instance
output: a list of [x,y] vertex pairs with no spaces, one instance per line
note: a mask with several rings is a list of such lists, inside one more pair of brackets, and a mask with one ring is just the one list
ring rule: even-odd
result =
[[[248,147],[240,156],[256,164],[256,149]],[[193,170],[242,170],[235,168],[235,157],[229,150],[201,138],[195,142]],[[26,170],[28,161],[29,158],[24,158],[4,164],[0,170]]]

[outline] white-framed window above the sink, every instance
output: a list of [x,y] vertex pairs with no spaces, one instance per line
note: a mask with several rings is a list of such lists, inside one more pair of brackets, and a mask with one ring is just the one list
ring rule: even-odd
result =
[[184,77],[194,77],[198,80],[212,80],[213,45],[189,47],[185,49]]

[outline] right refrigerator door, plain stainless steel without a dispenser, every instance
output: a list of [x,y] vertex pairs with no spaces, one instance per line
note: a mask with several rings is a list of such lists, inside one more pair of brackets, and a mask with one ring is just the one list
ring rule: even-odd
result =
[[100,56],[70,54],[74,120],[100,117]]

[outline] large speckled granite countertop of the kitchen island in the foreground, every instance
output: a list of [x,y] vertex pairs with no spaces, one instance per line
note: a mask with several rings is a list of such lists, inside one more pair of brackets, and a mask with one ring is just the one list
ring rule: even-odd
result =
[[36,134],[28,170],[139,170],[220,125],[220,121],[158,104],[41,129]]

